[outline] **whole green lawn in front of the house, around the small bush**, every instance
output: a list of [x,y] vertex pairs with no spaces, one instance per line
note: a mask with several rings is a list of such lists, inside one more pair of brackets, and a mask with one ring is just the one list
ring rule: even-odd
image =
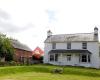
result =
[[[51,73],[63,68],[63,74]],[[0,80],[100,80],[100,70],[51,65],[0,67]]]

